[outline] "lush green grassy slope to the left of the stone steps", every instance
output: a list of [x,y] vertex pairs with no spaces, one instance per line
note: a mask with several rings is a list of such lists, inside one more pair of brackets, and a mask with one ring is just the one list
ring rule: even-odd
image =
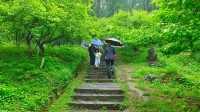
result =
[[64,86],[86,57],[79,47],[49,48],[44,69],[40,58],[28,57],[25,48],[0,48],[0,110],[38,111],[47,106],[52,90]]

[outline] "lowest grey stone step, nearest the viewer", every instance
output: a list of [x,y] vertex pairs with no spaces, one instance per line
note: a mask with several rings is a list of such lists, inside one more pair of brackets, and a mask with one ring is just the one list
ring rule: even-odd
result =
[[108,110],[119,110],[121,109],[121,102],[111,101],[73,101],[70,103],[73,108],[82,109],[108,109]]

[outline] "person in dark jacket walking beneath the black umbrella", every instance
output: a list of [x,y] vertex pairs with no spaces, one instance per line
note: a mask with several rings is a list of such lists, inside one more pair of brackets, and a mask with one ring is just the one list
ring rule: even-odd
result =
[[107,75],[108,75],[108,78],[111,78],[112,74],[109,72],[114,73],[114,61],[115,61],[116,53],[115,53],[115,48],[112,47],[110,43],[107,44],[104,51],[104,55],[105,55]]

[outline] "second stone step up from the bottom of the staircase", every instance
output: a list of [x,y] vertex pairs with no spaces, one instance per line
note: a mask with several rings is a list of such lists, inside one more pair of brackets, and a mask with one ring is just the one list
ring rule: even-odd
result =
[[75,101],[123,101],[122,94],[83,94],[77,93],[73,96]]

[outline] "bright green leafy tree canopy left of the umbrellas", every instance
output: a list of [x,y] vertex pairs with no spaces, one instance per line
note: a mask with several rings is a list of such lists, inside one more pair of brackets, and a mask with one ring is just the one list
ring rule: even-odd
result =
[[0,1],[1,38],[26,42],[31,51],[36,44],[40,55],[44,45],[55,40],[81,40],[86,31],[87,6],[82,0],[11,0]]

